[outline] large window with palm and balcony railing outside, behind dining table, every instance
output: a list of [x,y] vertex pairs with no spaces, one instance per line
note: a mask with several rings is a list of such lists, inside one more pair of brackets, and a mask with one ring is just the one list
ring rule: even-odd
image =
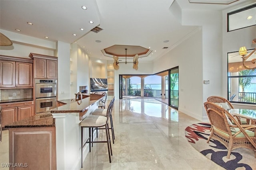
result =
[[[246,62],[251,64],[251,61]],[[228,53],[228,99],[230,102],[256,104],[256,69],[245,69],[238,52]]]

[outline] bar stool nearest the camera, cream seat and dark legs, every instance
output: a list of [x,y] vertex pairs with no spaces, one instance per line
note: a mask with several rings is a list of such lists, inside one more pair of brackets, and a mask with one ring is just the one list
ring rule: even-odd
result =
[[[108,115],[110,113],[110,108],[108,108],[107,112],[108,112],[107,113]],[[112,148],[111,148],[109,127],[108,127],[108,116],[89,115],[84,120],[82,120],[82,122],[80,123],[80,127],[81,127],[81,168],[83,167],[83,148],[86,145],[86,143],[89,143],[89,152],[91,152],[92,143],[107,143],[108,157],[109,157],[109,162],[111,163]],[[85,143],[83,140],[84,128],[89,129],[89,137],[88,139],[86,139]],[[93,141],[93,138],[92,138],[93,135],[91,135],[91,133],[93,133],[94,128],[105,129],[106,141]]]

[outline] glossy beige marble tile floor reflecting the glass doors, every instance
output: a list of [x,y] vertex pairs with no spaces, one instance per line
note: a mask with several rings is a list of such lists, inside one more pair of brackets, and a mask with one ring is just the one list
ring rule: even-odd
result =
[[[108,101],[109,102],[109,101]],[[115,143],[109,163],[106,143],[94,144],[81,170],[223,170],[196,151],[184,129],[200,121],[155,99],[116,100]],[[99,134],[98,140],[104,137]],[[8,162],[8,130],[0,143],[0,164]],[[7,170],[2,168],[0,170]]]

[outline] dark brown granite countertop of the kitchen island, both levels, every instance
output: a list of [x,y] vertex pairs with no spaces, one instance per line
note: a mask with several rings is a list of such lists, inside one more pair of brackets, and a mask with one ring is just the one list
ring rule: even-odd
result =
[[[55,127],[55,119],[52,113],[78,113],[82,117],[86,113],[86,109],[101,100],[104,95],[100,94],[90,94],[90,97],[82,99],[81,101],[74,102],[70,99],[68,100],[58,100],[59,102],[65,103],[65,105],[56,107],[51,111],[46,111],[45,113],[36,114],[34,116],[16,121],[14,123],[5,125],[5,128],[21,128],[21,127]],[[51,112],[51,113],[49,113]]]

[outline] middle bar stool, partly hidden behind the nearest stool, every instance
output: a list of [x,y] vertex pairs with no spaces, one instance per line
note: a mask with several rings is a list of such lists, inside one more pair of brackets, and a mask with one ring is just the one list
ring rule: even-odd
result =
[[[110,104],[108,105],[108,108],[110,107],[110,112],[109,113],[108,113],[107,109],[95,109],[92,112],[92,115],[105,116],[105,117],[108,117],[110,119],[110,128],[109,129],[111,129],[113,144],[114,144],[114,139],[115,139],[113,119],[112,119],[112,111],[113,111],[113,108],[114,108],[114,102],[115,102],[115,97],[110,101]],[[98,129],[102,129],[102,128],[96,128],[97,137],[98,137]]]

